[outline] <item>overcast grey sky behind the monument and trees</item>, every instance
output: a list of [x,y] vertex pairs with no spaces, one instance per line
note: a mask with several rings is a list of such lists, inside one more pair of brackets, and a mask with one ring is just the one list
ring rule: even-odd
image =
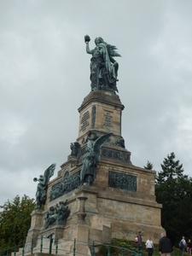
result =
[[122,136],[134,166],[174,152],[192,176],[192,1],[0,1],[0,205],[35,197],[79,131],[90,93],[84,35],[117,46]]

